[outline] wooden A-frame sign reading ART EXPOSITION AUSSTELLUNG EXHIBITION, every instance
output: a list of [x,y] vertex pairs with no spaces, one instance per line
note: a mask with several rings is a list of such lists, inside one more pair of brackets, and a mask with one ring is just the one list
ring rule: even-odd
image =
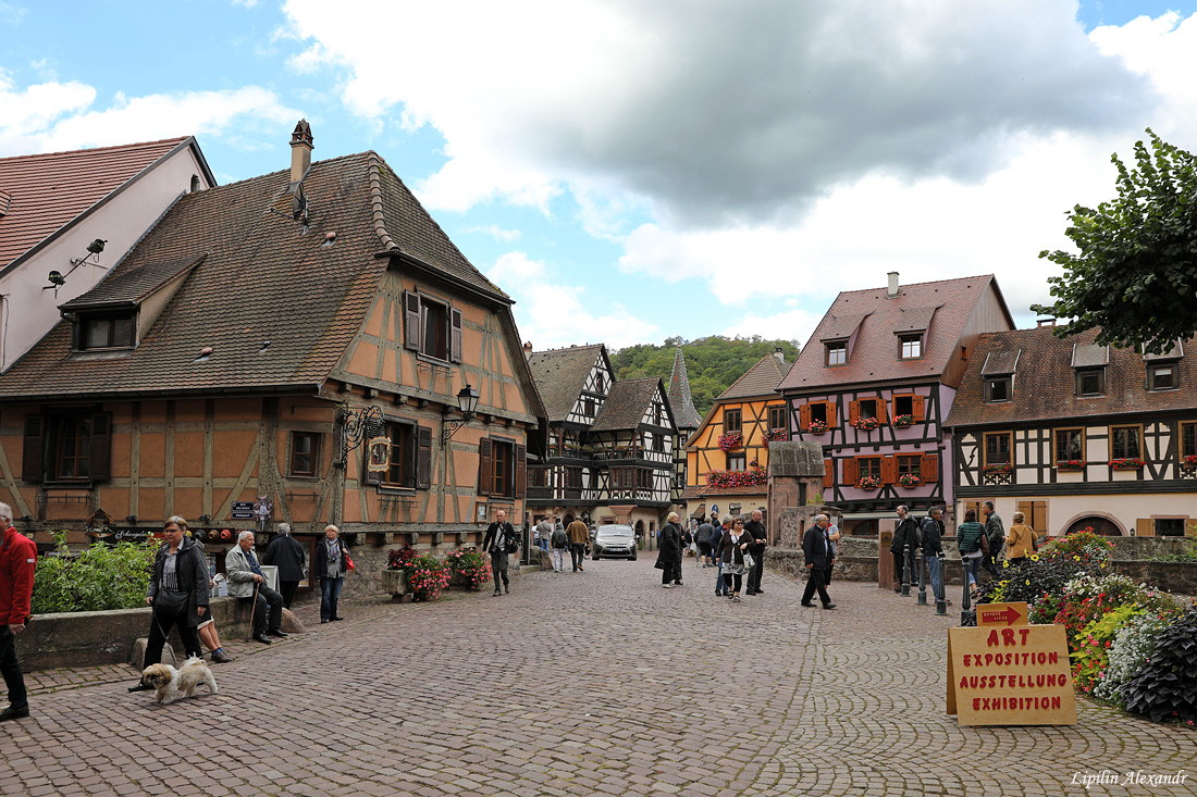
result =
[[947,704],[960,725],[1075,725],[1064,627],[949,628]]

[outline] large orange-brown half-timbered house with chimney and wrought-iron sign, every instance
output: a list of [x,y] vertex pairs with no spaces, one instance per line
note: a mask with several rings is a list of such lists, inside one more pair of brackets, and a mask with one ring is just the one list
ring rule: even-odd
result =
[[511,299],[378,154],[311,148],[300,122],[290,172],[180,197],[0,377],[24,529],[430,546],[522,518],[543,409]]

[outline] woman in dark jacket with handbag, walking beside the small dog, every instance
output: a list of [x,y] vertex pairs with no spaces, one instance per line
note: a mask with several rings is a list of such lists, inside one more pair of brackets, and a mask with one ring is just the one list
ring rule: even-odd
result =
[[[152,612],[142,669],[162,663],[162,647],[176,625],[187,655],[203,658],[198,626],[208,613],[208,566],[195,541],[183,536],[183,528],[176,518],[166,521],[162,533],[165,542],[154,556],[150,595],[146,597]],[[129,692],[152,688],[139,680],[129,687]]]

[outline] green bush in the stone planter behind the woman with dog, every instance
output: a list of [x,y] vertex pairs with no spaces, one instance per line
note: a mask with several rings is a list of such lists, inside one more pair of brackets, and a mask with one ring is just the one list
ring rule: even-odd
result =
[[34,614],[133,609],[146,604],[156,541],[97,544],[78,555],[66,533],[54,535],[55,552],[37,560]]

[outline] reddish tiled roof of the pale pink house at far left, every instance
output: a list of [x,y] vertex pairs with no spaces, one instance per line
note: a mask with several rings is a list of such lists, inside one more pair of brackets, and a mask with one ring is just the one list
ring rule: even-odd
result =
[[0,268],[192,141],[184,136],[0,158]]

